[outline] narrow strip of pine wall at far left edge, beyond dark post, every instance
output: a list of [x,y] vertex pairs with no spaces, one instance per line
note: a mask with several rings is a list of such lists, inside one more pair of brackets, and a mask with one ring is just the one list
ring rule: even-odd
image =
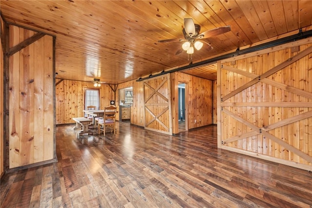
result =
[[[1,37],[4,37],[4,22],[3,19],[0,17],[0,25],[1,25]],[[4,151],[3,151],[3,49],[2,47],[4,47],[4,45],[2,45],[2,41],[3,39],[1,39],[0,41],[0,176],[3,175],[4,173]]]

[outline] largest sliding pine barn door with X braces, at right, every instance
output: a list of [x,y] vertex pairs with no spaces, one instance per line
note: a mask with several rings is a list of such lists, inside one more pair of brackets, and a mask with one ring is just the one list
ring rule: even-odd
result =
[[311,42],[218,64],[220,148],[312,170]]

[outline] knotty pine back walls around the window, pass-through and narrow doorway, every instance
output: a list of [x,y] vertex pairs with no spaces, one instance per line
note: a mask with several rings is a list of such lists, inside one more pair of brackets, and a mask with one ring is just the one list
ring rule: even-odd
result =
[[[178,133],[178,113],[177,113],[177,86],[178,82],[186,82],[188,99],[188,129],[193,129],[213,123],[213,81],[187,75],[184,73],[174,73],[172,79],[172,114],[173,133]],[[59,82],[59,79],[56,79]],[[74,123],[73,117],[83,116],[84,109],[83,88],[93,87],[91,82],[63,80],[56,86],[56,123]],[[143,82],[136,80],[124,82],[117,85],[116,104],[119,113],[119,89],[133,87],[133,106],[131,106],[131,124],[144,127],[144,95]],[[109,101],[115,99],[114,91],[107,85],[100,87],[100,106],[109,105]],[[119,115],[117,113],[117,119]],[[198,122],[194,122],[194,120]]]

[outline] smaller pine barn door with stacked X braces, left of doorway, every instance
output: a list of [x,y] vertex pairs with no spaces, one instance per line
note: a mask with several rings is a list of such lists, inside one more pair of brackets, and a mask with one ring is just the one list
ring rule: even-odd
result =
[[145,129],[172,135],[170,74],[144,80]]

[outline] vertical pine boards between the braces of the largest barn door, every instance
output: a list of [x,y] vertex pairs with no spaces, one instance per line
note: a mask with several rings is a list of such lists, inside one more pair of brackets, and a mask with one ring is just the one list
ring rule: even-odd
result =
[[[241,78],[239,71],[246,71],[256,76],[271,70],[273,67],[290,60],[293,56],[299,54],[303,50],[309,48],[312,44],[305,44],[299,47],[299,52],[291,52],[291,49],[283,49],[262,54],[257,53],[254,57],[236,59],[235,64],[229,59],[224,65],[231,66],[237,69],[238,73],[232,70],[221,70],[221,76],[218,78],[221,83],[221,97],[233,92],[242,85],[250,81],[250,78]],[[252,136],[240,137],[241,134],[252,132],[254,130],[248,127],[247,124],[254,125],[259,129],[273,125],[285,119],[291,119],[293,116],[307,113],[312,110],[311,107],[299,106],[303,102],[312,102],[311,98],[305,97],[302,94],[290,92],[290,88],[302,90],[307,93],[312,93],[312,54],[300,58],[287,67],[268,76],[266,79],[273,81],[272,84],[260,81],[247,89],[235,94],[225,102],[221,102],[221,107],[234,115],[245,120],[242,123],[236,120],[232,115],[221,113],[220,127],[221,135],[219,137],[224,142],[222,148],[243,152],[261,158],[270,158],[274,161],[284,160],[284,164],[297,166],[298,164],[311,166],[312,158],[312,141],[311,141],[311,120],[312,118],[303,117],[299,121],[274,128],[268,131],[270,134],[279,140],[291,145],[295,149],[288,150],[283,143],[274,142],[273,139],[266,138],[262,134],[254,134]],[[246,76],[245,76],[246,77]],[[286,88],[277,87],[285,85]],[[276,85],[276,86],[274,86]],[[263,105],[262,102],[267,104]],[[275,103],[281,103],[275,105]],[[292,103],[298,103],[298,107],[293,107]],[[311,105],[309,105],[311,106]],[[234,137],[237,139],[233,139]],[[229,142],[227,142],[227,139]],[[230,149],[229,149],[230,148]],[[291,148],[291,147],[290,147]],[[304,152],[308,156],[300,155]],[[256,154],[251,154],[253,152]],[[264,156],[263,156],[264,155]],[[310,157],[309,157],[310,156]]]

